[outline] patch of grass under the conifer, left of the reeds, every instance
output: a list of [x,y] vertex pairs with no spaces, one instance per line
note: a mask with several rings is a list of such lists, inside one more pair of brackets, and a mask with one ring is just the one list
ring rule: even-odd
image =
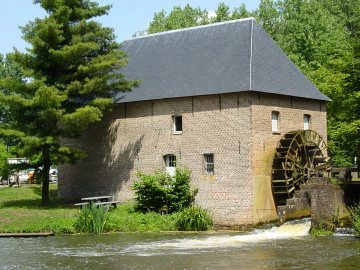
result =
[[78,210],[56,199],[57,185],[50,185],[49,206],[41,206],[41,187],[22,185],[0,188],[0,232],[74,233]]

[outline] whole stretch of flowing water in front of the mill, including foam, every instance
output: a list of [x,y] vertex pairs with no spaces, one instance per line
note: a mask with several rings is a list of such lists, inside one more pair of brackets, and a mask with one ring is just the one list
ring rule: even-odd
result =
[[0,269],[360,269],[360,240],[309,228],[0,238]]

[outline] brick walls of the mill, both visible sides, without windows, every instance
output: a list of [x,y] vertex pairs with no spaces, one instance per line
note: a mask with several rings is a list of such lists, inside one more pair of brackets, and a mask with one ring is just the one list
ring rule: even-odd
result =
[[[287,131],[302,129],[303,115],[326,138],[320,102],[250,92],[133,102],[118,105],[101,124],[77,141],[88,152],[77,165],[59,168],[59,195],[116,193],[133,198],[136,172],[164,169],[164,155],[192,171],[197,203],[221,225],[253,224],[276,218],[271,164],[276,144]],[[280,112],[280,133],[271,132],[271,111]],[[173,133],[172,116],[182,115],[182,134]],[[215,174],[206,175],[203,154],[213,153]]]

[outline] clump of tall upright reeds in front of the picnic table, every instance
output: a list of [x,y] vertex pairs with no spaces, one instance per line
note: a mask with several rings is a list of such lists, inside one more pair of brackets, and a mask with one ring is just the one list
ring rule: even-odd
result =
[[100,234],[105,231],[108,216],[108,209],[102,205],[84,205],[80,209],[74,227],[78,232]]

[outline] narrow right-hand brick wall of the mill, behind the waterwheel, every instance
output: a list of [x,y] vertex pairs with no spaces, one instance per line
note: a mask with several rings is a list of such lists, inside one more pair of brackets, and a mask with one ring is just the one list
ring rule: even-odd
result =
[[[277,218],[271,190],[271,167],[275,148],[283,135],[304,129],[304,114],[311,116],[310,129],[326,141],[326,104],[317,100],[253,93],[252,181],[254,183],[253,222]],[[271,129],[271,112],[279,112],[279,132]]]

